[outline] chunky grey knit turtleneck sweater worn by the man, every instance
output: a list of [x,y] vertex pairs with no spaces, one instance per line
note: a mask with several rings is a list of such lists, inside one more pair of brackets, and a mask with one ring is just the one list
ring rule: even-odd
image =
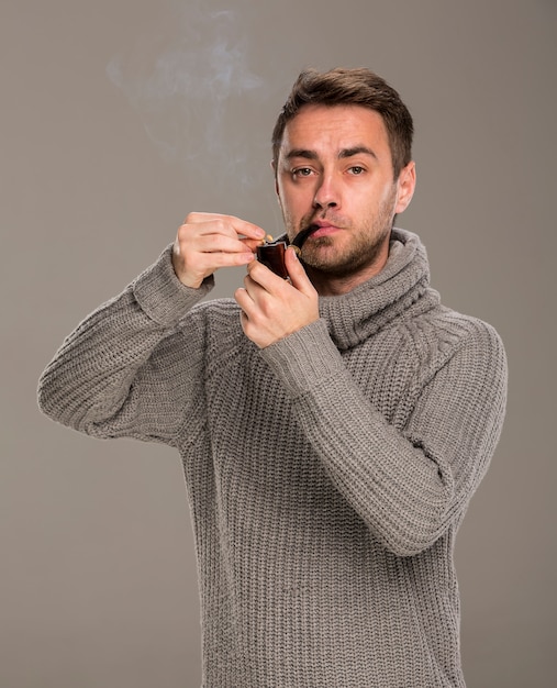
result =
[[182,458],[207,688],[464,686],[453,550],[497,444],[506,366],[393,231],[385,269],[258,349],[169,248],[67,337],[53,419]]

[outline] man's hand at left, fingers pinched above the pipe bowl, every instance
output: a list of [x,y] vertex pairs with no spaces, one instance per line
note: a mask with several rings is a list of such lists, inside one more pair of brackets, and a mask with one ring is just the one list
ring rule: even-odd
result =
[[174,270],[182,285],[197,289],[220,267],[250,263],[264,236],[261,228],[239,218],[192,212],[174,243]]

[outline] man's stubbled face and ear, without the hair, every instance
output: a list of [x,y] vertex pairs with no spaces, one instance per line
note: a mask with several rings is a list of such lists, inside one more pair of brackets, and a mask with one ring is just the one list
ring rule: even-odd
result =
[[276,185],[290,240],[310,224],[302,258],[310,274],[350,281],[378,273],[387,260],[396,213],[415,184],[410,163],[393,181],[387,129],[360,106],[304,106],[282,137]]

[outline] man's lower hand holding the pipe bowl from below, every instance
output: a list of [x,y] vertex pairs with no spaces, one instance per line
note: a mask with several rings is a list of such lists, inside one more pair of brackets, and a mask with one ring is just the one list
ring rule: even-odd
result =
[[285,263],[290,281],[257,260],[249,263],[245,288],[234,293],[242,308],[242,326],[259,348],[319,320],[319,298],[296,252],[287,248]]

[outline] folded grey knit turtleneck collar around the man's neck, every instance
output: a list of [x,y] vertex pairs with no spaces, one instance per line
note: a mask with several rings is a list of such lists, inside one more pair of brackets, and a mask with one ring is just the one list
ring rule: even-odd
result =
[[438,301],[430,288],[430,266],[419,236],[393,229],[383,269],[348,293],[320,297],[320,313],[337,348],[345,351],[405,311],[428,310]]

